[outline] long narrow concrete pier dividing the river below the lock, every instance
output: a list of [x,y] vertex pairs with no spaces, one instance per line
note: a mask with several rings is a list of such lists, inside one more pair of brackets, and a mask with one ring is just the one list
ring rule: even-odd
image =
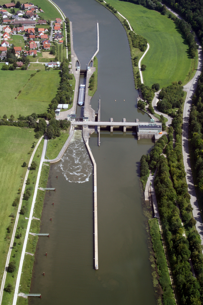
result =
[[93,164],[94,175],[94,268],[98,269],[98,235],[97,235],[97,189],[96,189],[96,162],[94,160],[88,141],[85,142],[87,151]]

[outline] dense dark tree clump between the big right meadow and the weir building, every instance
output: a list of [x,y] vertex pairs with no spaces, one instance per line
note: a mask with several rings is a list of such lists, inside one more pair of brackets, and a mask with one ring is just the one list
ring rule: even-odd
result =
[[162,88],[159,93],[157,109],[163,113],[170,113],[171,109],[179,108],[184,102],[184,91],[182,82],[174,81],[171,86]]

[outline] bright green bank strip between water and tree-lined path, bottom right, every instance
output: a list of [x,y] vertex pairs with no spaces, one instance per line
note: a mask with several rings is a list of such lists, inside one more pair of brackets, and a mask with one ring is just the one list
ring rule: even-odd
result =
[[171,286],[169,270],[166,262],[166,256],[163,249],[161,232],[159,230],[159,223],[157,218],[149,219],[149,231],[152,240],[152,247],[154,250],[154,257],[159,274],[159,283],[163,289],[163,304],[175,305],[173,289]]

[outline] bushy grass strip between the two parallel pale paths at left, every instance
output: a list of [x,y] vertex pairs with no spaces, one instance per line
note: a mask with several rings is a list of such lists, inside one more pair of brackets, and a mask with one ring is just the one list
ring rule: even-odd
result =
[[[10,127],[6,127],[6,128],[10,128]],[[33,157],[33,161],[37,162],[36,169],[29,170],[26,188],[25,188],[25,192],[24,192],[24,194],[26,193],[26,194],[28,194],[28,196],[27,197],[24,196],[24,198],[23,198],[21,212],[20,212],[19,220],[18,220],[18,226],[17,226],[16,235],[15,235],[15,239],[14,239],[14,243],[13,243],[13,249],[12,249],[11,258],[10,258],[10,262],[13,262],[13,264],[14,264],[14,266],[16,266],[16,268],[13,272],[8,271],[6,274],[5,289],[3,292],[2,305],[9,304],[11,302],[11,300],[13,299],[14,289],[15,289],[15,285],[16,285],[16,278],[17,278],[18,268],[19,268],[19,262],[20,262],[20,257],[21,257],[21,253],[22,253],[22,249],[23,249],[23,242],[25,239],[26,228],[27,228],[27,223],[28,223],[27,219],[30,216],[30,209],[31,209],[31,205],[32,205],[35,184],[37,181],[37,173],[38,173],[38,169],[39,169],[39,165],[40,165],[40,156],[42,153],[43,144],[44,144],[44,140],[42,139],[34,154],[34,157]],[[22,148],[21,148],[21,150],[22,150]],[[23,164],[23,161],[21,161],[21,163]],[[27,167],[25,167],[25,170],[27,170]],[[9,178],[10,178],[10,176],[9,176]],[[10,203],[10,205],[11,204],[14,205],[13,202]],[[16,212],[18,209],[18,203],[16,206],[13,207],[13,209],[14,209],[13,216],[14,215],[15,216],[12,218],[15,219]],[[13,224],[12,224],[11,233],[12,233],[12,231],[13,231]],[[7,290],[6,287],[8,286],[9,283],[13,287],[11,292],[6,291]]]

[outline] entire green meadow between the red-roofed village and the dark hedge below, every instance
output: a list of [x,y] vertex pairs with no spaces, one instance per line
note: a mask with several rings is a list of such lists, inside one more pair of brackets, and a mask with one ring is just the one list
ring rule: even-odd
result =
[[[35,69],[39,69],[39,67],[36,66]],[[60,71],[41,71],[41,75],[40,73],[37,73],[28,81],[32,73],[33,71],[29,70],[1,70],[1,117],[3,117],[4,114],[6,114],[7,117],[10,117],[10,115],[13,114],[15,119],[17,119],[19,114],[26,116],[33,112],[44,113],[47,111],[48,104],[56,96],[57,88],[59,87],[59,82],[61,80]],[[10,85],[8,86],[8,84]],[[29,91],[26,91],[26,88],[29,88]],[[24,93],[21,93],[18,98],[15,99],[20,90]],[[28,92],[28,94],[26,94],[26,92]]]

